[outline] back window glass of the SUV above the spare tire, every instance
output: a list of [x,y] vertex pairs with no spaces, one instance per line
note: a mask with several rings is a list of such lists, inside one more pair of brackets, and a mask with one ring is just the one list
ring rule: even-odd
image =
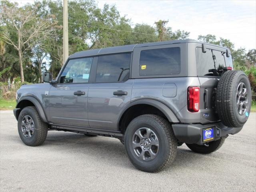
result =
[[[206,53],[202,52],[202,48],[196,48],[196,69],[198,76],[219,76],[209,70],[220,70],[226,67],[225,52],[205,49]],[[232,62],[232,60],[231,60]]]

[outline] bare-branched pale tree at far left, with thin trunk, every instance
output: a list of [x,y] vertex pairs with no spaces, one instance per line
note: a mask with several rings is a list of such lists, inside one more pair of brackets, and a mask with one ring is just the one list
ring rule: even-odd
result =
[[9,32],[16,33],[16,38],[10,38],[8,33],[4,34],[5,42],[13,46],[18,51],[19,65],[20,65],[20,77],[21,82],[24,82],[23,64],[22,59],[24,52],[32,50],[34,46],[46,38],[52,30],[52,26],[55,22],[46,19],[40,19],[36,17],[36,9],[31,6],[25,6],[19,8],[17,4],[12,6],[3,5],[2,15],[4,21],[8,23],[8,26],[12,26]]

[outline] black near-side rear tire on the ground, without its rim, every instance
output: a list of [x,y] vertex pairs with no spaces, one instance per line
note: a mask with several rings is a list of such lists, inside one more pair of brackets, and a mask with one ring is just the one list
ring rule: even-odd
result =
[[[133,137],[140,128],[150,128],[157,136],[159,149],[154,159],[142,160],[134,152]],[[124,136],[124,147],[132,164],[145,172],[158,172],[171,164],[177,153],[177,139],[170,123],[157,115],[147,114],[134,118]]]

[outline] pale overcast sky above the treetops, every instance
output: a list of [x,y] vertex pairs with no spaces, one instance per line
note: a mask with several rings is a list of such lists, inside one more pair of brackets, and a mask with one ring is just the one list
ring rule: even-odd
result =
[[190,32],[192,39],[214,34],[230,39],[236,48],[256,48],[256,0],[98,0],[100,8],[105,3],[115,4],[132,24],[169,20],[168,26]]

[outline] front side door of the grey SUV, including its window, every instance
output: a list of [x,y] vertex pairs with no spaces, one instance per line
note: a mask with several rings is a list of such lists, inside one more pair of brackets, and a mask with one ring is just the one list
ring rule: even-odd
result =
[[93,58],[69,60],[49,92],[50,122],[89,127],[87,96]]

